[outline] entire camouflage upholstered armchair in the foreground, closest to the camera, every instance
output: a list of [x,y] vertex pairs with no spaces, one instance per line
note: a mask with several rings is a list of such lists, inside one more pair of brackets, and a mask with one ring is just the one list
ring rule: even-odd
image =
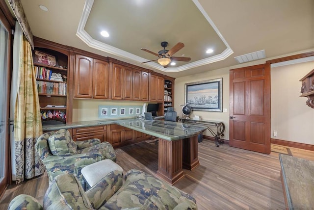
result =
[[84,192],[72,174],[53,180],[44,196],[43,205],[29,195],[19,195],[9,210],[195,210],[195,199],[180,189],[139,170],[130,170],[122,182],[122,173],[112,171]]

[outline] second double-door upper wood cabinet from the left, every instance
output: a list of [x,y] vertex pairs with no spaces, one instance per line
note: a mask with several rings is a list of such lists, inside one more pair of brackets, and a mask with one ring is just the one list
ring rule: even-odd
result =
[[133,70],[112,63],[112,99],[132,100]]

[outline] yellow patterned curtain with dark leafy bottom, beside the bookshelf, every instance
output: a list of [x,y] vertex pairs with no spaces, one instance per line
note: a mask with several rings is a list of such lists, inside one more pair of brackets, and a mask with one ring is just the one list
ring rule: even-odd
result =
[[31,47],[23,36],[20,52],[18,94],[14,113],[16,183],[44,173],[35,151],[36,139],[43,133]]

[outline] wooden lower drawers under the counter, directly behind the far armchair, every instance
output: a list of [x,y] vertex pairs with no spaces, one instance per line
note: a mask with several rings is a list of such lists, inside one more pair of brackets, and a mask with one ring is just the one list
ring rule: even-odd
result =
[[72,138],[74,141],[84,141],[91,138],[99,138],[101,142],[107,141],[107,126],[74,128]]

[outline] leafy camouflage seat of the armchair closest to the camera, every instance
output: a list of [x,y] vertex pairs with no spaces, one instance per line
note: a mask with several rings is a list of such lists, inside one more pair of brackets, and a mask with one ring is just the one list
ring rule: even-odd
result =
[[104,207],[107,209],[197,209],[196,200],[191,195],[135,169],[126,173],[125,183]]

